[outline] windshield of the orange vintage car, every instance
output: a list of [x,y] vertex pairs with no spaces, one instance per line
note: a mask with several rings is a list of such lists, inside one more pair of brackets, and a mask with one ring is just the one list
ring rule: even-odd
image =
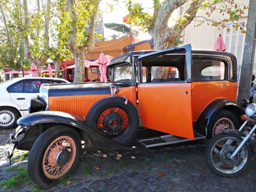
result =
[[118,80],[132,81],[132,66],[130,63],[114,67],[114,81]]

